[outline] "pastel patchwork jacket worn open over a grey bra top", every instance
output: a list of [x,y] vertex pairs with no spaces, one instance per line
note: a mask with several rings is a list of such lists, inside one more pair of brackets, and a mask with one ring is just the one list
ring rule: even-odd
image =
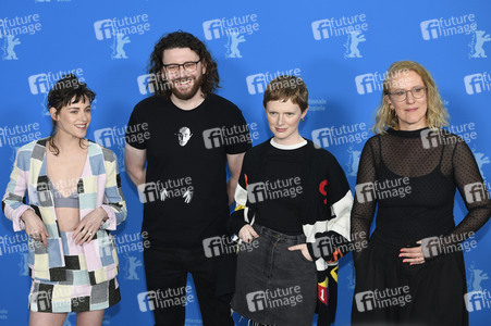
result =
[[[121,179],[114,153],[89,141],[87,159],[78,178],[77,192],[81,220],[97,208],[108,213],[90,243],[63,246],[53,204],[53,189],[48,183],[46,168],[47,138],[29,142],[17,151],[10,181],[2,200],[5,216],[13,229],[25,229],[21,215],[33,210],[42,218],[49,234],[48,247],[29,238],[28,265],[30,276],[39,280],[63,281],[65,269],[87,269],[90,284],[114,278],[119,261],[114,238],[109,230],[126,218],[126,203],[121,191]],[[26,204],[27,191],[29,205]],[[65,260],[65,256],[69,259]]]

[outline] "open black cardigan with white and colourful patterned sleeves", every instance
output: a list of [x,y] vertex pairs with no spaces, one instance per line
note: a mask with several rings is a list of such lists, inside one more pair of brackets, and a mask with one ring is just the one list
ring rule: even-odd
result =
[[[263,181],[262,171],[270,140],[248,150],[235,191],[237,206],[229,220],[230,234],[238,235],[246,224],[254,224],[257,202],[248,200],[251,184]],[[337,260],[349,248],[349,215],[353,195],[344,171],[327,150],[307,140],[302,167],[306,180],[302,198],[302,224],[307,248],[317,268],[318,325],[334,322],[337,297]]]

